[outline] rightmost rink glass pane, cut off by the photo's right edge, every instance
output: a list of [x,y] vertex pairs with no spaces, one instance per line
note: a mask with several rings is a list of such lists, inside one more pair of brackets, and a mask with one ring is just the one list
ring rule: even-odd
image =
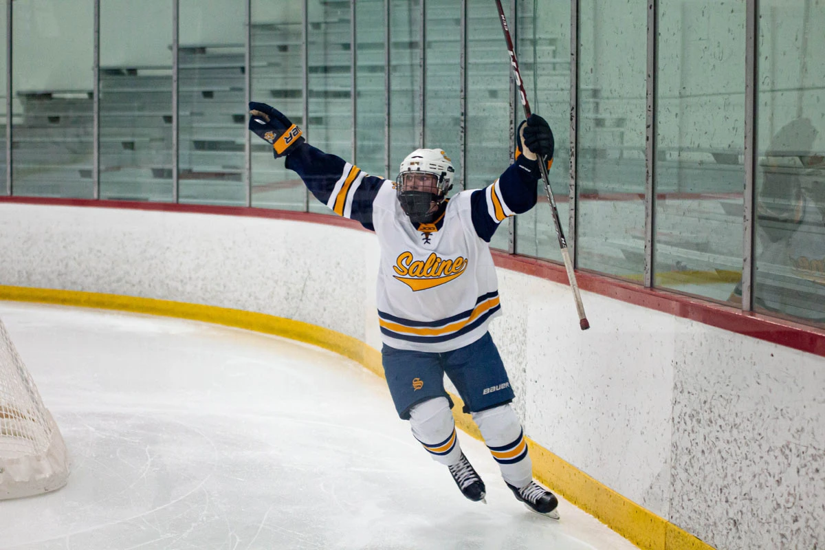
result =
[[761,2],[757,311],[825,323],[825,3]]

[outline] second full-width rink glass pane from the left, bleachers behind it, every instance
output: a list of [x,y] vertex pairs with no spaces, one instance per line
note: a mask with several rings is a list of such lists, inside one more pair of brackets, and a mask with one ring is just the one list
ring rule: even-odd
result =
[[171,201],[172,4],[101,0],[100,18],[100,197]]

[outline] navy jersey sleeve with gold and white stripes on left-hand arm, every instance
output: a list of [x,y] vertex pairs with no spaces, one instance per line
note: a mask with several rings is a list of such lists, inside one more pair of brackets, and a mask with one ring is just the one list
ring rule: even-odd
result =
[[301,143],[286,157],[286,167],[295,170],[316,199],[344,218],[355,219],[374,231],[372,202],[386,181],[370,176],[341,157]]

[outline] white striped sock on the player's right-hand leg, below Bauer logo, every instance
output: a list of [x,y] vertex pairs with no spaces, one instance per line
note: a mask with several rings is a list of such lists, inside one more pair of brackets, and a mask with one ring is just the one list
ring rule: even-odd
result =
[[533,481],[533,461],[512,407],[507,404],[474,412],[473,420],[479,425],[484,443],[501,468],[504,481],[519,488]]

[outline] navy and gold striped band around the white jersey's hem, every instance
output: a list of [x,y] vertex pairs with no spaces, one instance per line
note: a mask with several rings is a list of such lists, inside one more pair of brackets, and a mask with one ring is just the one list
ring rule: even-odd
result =
[[381,332],[390,338],[411,342],[436,343],[452,340],[473,331],[499,309],[501,309],[501,305],[498,301],[498,291],[493,290],[493,292],[479,296],[474,308],[452,317],[446,317],[446,319],[413,321],[379,310],[378,322]]

